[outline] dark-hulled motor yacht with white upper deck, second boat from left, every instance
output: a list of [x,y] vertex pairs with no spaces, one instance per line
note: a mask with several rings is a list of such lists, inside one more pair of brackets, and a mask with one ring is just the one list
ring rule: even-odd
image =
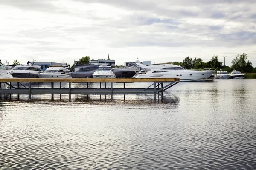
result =
[[16,65],[12,68],[12,76],[14,78],[39,78],[38,74],[43,73],[39,68],[41,65]]

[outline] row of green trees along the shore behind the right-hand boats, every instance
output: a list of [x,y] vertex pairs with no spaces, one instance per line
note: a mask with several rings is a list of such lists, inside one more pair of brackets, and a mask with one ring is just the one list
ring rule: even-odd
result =
[[237,54],[232,60],[231,67],[223,65],[222,62],[218,61],[218,56],[213,56],[208,62],[203,62],[201,58],[190,58],[189,56],[183,59],[183,62],[172,62],[174,65],[180,65],[186,69],[203,69],[203,68],[218,68],[231,72],[233,70],[241,71],[243,73],[256,73],[256,67],[253,68],[252,63],[248,60],[247,54]]

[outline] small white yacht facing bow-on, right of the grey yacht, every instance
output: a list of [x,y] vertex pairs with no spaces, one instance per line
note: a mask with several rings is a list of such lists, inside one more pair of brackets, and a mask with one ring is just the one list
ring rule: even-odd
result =
[[111,66],[100,66],[98,70],[93,73],[93,78],[116,78],[116,75]]

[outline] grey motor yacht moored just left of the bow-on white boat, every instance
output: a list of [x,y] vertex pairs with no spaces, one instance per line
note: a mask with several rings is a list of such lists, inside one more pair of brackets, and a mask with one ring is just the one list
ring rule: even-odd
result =
[[93,78],[93,72],[98,70],[99,65],[85,64],[75,65],[75,71],[67,73],[72,78]]

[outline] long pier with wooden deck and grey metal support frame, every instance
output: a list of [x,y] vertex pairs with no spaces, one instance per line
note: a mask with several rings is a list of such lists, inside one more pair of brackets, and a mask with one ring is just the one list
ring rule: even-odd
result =
[[[131,79],[131,78],[116,78],[116,79],[0,79],[1,85],[9,85],[8,88],[0,87],[0,94],[158,94],[163,93],[167,89],[180,82],[179,78],[145,78],[145,79]],[[33,87],[32,83],[44,82],[49,83],[49,87],[38,88]],[[56,85],[59,82],[59,85]],[[61,82],[67,82],[68,87],[61,87]],[[71,83],[83,83],[86,87],[74,88]],[[89,82],[100,82],[99,88],[90,88]],[[110,87],[106,87],[106,82],[110,82]],[[113,82],[123,83],[123,88],[113,87]],[[146,88],[138,88],[134,84],[133,88],[126,88],[127,82],[152,82]],[[26,83],[23,85],[22,83]],[[164,85],[165,83],[166,85]],[[104,86],[105,84],[105,86]],[[109,83],[108,83],[109,84]]]

